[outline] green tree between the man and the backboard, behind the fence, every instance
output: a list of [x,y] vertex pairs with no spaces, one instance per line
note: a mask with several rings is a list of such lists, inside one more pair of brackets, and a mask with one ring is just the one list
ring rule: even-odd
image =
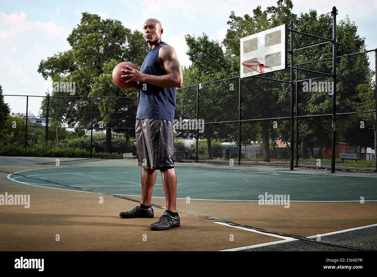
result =
[[[192,65],[183,70],[184,86],[237,76],[234,67],[238,64],[224,53],[218,41],[209,40],[206,34],[198,38],[186,35],[185,39],[189,47],[187,55]],[[234,102],[237,91],[238,79],[224,81],[221,84],[204,84],[203,89],[199,90],[199,119],[204,122],[220,122],[228,117],[238,118],[238,102]],[[183,119],[196,118],[196,87],[180,89],[177,92],[175,118],[179,116]],[[191,133],[193,138],[196,138],[196,130],[185,130],[182,133]],[[213,159],[212,138],[230,139],[235,133],[235,124],[205,124],[204,132],[198,133],[198,139],[207,140],[208,156],[209,159]]]

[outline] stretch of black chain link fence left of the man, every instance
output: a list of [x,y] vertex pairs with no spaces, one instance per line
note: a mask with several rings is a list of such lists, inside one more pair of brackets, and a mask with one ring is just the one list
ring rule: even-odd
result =
[[[124,158],[124,153],[128,153],[127,158],[137,155],[135,97],[4,95],[4,98],[14,108],[6,124],[0,126],[0,147],[8,151],[2,155],[104,158]],[[23,151],[22,147],[29,151]]]

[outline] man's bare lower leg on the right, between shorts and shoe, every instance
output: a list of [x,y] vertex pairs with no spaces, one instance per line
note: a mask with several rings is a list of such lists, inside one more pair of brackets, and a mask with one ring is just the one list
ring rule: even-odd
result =
[[177,175],[175,174],[175,168],[161,167],[160,170],[166,198],[166,210],[175,213],[177,200]]

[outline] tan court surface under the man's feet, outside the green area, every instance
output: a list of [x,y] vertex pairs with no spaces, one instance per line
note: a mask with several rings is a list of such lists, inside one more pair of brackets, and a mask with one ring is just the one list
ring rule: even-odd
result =
[[[48,166],[2,166],[17,172]],[[11,171],[10,171],[11,170]],[[285,234],[314,236],[377,222],[377,202],[291,202],[290,208],[258,205],[257,201],[177,200],[181,226],[152,231],[164,209],[154,207],[152,219],[122,219],[120,211],[137,202],[87,193],[20,184],[0,172],[0,194],[30,194],[30,208],[0,206],[0,250],[25,251],[218,251],[281,240],[268,234],[215,223],[227,220]],[[103,197],[103,204],[100,204]],[[138,196],[129,196],[140,200]],[[165,199],[152,204],[165,207]],[[181,213],[180,213],[181,212]],[[60,241],[56,241],[56,235]],[[230,240],[232,237],[234,240]]]

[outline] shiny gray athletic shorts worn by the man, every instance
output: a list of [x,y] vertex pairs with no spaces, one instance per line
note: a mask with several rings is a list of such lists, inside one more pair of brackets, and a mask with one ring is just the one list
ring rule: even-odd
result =
[[138,165],[147,169],[174,167],[173,122],[166,119],[136,119]]

